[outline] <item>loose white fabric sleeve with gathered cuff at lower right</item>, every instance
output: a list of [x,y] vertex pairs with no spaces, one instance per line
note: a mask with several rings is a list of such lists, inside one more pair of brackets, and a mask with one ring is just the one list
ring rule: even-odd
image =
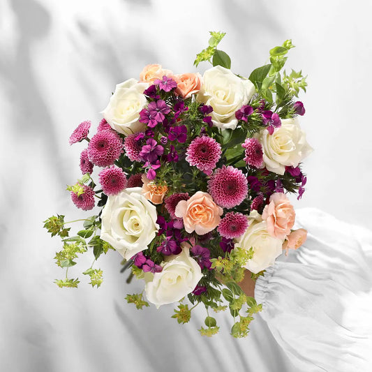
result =
[[297,211],[308,239],[255,286],[262,318],[298,371],[372,371],[372,232]]

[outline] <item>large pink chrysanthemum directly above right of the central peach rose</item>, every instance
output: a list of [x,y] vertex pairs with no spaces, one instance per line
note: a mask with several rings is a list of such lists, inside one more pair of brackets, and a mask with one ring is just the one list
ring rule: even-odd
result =
[[232,208],[246,198],[248,182],[241,170],[223,165],[209,179],[208,192],[220,207]]

